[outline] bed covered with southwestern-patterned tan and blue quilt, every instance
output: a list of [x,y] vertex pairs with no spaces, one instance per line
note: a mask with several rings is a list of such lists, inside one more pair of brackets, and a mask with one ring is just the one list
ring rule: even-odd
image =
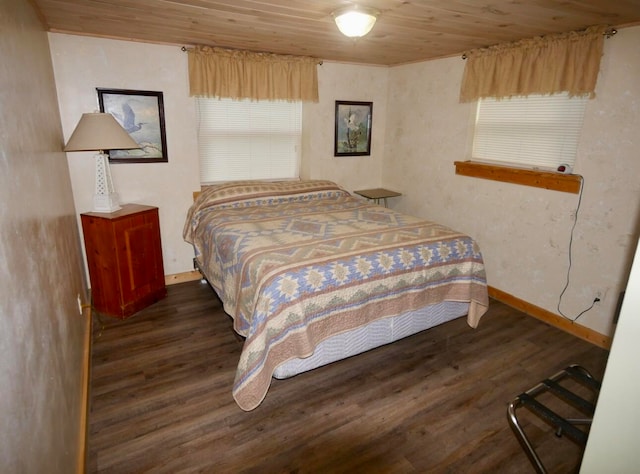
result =
[[245,338],[232,394],[256,408],[287,378],[488,308],[469,236],[324,180],[203,188],[184,239]]

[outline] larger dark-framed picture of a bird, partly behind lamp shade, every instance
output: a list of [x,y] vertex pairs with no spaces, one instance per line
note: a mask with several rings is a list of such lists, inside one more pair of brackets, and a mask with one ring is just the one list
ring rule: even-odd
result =
[[113,115],[139,145],[134,150],[109,150],[112,163],[167,162],[162,92],[97,88],[100,112]]

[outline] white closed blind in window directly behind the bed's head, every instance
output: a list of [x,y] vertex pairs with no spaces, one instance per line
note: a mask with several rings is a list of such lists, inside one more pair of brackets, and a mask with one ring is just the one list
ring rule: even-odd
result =
[[299,176],[302,102],[196,101],[202,184]]

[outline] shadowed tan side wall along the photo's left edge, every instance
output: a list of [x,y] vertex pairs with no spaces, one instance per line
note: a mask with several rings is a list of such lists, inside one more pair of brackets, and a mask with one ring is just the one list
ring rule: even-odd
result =
[[0,472],[75,472],[86,287],[47,34],[30,2],[0,2],[0,57]]

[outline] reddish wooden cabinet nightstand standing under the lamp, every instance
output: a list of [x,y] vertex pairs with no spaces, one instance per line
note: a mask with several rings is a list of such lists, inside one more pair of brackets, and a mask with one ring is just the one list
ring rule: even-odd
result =
[[80,217],[96,311],[126,318],[166,296],[157,207]]

